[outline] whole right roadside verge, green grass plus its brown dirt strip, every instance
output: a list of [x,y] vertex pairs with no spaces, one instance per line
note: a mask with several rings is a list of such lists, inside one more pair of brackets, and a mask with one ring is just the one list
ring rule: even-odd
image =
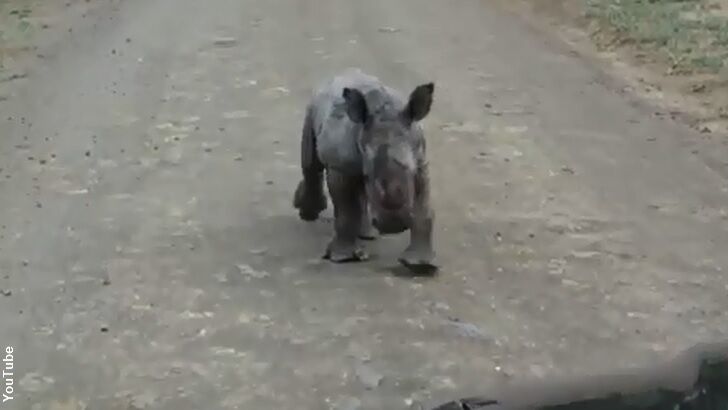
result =
[[728,135],[728,0],[491,1],[596,57],[657,109]]

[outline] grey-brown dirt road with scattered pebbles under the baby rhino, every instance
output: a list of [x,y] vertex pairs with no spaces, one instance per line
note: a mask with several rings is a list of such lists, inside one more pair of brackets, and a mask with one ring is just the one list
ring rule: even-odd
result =
[[[728,149],[489,2],[113,4],[0,102],[0,408],[418,408],[728,334]],[[350,66],[437,84],[437,277],[291,206]]]

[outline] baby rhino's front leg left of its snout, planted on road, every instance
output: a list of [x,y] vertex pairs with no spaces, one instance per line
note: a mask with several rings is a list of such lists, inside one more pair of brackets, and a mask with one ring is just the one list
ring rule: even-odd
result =
[[336,263],[369,259],[358,241],[364,216],[362,178],[328,170],[326,184],[334,204],[334,237],[326,248],[324,258]]

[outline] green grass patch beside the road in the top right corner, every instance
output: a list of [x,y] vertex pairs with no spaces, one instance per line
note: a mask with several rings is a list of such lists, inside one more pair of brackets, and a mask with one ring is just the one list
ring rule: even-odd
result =
[[728,67],[726,0],[584,0],[610,41],[654,51],[669,74],[717,74]]

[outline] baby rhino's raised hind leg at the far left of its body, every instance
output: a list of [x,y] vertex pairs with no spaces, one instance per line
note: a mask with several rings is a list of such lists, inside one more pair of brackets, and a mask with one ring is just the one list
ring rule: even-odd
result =
[[301,170],[303,180],[293,195],[293,206],[304,221],[314,221],[326,209],[324,192],[324,165],[316,153],[316,135],[313,131],[311,109],[306,110],[301,132]]

